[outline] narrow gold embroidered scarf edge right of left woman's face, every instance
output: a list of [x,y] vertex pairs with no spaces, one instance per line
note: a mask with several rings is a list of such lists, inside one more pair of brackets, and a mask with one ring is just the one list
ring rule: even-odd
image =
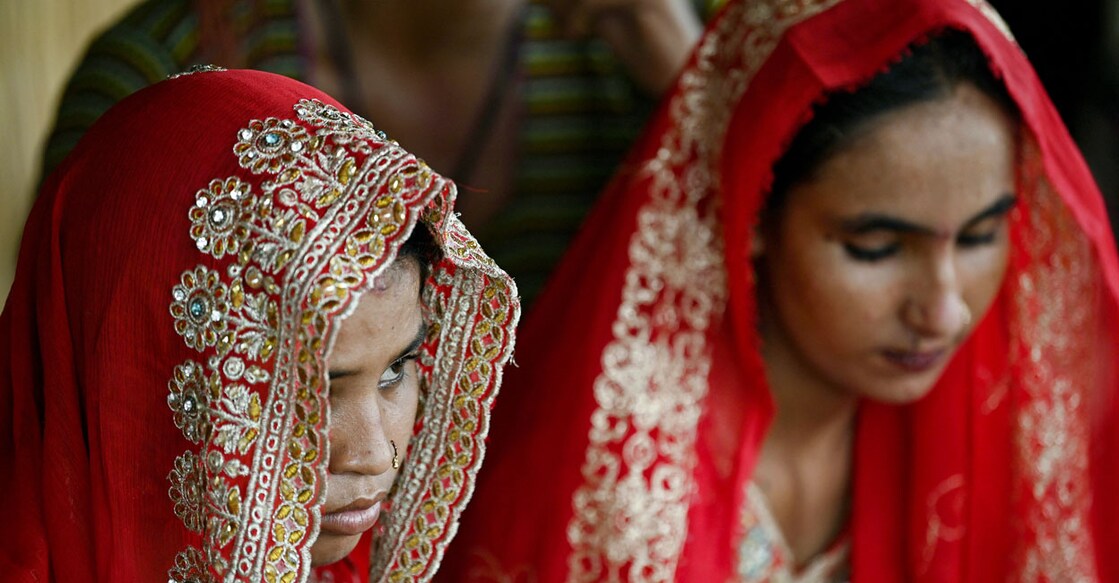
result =
[[[463,250],[477,250],[477,243],[467,233],[458,217],[451,216],[443,232],[446,252],[451,256]],[[454,242],[452,243],[452,239]],[[496,270],[492,261],[479,254],[477,266],[483,271]],[[493,271],[492,273],[497,273]],[[500,367],[495,357],[508,350],[508,323],[515,321],[518,305],[510,301],[511,290],[506,280],[486,278],[479,281],[466,270],[445,270],[435,274],[433,284],[424,288],[424,304],[432,313],[433,336],[442,340],[435,352],[433,345],[425,345],[420,366],[424,376],[458,378],[460,396],[449,398],[446,388],[430,394],[424,402],[424,419],[451,420],[451,432],[439,431],[438,425],[424,424],[412,440],[408,463],[431,467],[423,474],[410,473],[398,483],[393,513],[386,517],[384,540],[392,542],[378,548],[373,572],[387,572],[383,581],[411,582],[430,579],[439,568],[440,551],[432,560],[433,542],[445,545],[453,534],[448,529],[446,506],[432,505],[424,492],[438,492],[444,505],[469,499],[473,477],[481,458],[473,454],[485,448],[488,420],[479,416],[496,396],[495,382],[500,378]],[[477,313],[477,319],[457,318],[455,313]],[[462,339],[470,339],[468,345]],[[471,358],[452,358],[455,354],[476,355]],[[468,396],[469,395],[469,396]],[[478,425],[482,431],[476,433]],[[424,537],[407,537],[407,530],[424,533]],[[391,565],[391,561],[396,561]]]

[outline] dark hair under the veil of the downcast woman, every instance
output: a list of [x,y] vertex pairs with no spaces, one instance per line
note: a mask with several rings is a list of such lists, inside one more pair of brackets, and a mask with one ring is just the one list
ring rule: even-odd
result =
[[927,43],[910,45],[901,60],[866,85],[833,93],[812,109],[812,117],[773,164],[765,214],[779,213],[789,189],[811,178],[868,122],[906,105],[948,97],[961,83],[974,85],[1007,113],[1017,114],[1006,86],[991,73],[975,39],[961,30],[946,30]]

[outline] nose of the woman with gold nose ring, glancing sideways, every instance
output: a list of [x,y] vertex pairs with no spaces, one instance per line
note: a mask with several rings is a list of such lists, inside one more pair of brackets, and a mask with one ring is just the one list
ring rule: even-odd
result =
[[331,411],[330,473],[379,476],[393,469],[394,446],[376,403],[338,403]]

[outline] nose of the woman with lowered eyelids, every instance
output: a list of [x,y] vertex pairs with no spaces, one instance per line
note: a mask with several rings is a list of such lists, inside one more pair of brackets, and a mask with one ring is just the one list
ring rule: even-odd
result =
[[971,308],[962,294],[951,253],[930,262],[916,278],[902,308],[905,323],[922,336],[957,337],[971,325]]

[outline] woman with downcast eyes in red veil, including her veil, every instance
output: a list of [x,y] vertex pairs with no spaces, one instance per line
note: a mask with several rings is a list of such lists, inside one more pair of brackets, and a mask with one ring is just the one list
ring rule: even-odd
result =
[[[944,45],[987,81],[805,143]],[[527,319],[442,574],[1119,581],[1112,241],[981,0],[733,1]]]

